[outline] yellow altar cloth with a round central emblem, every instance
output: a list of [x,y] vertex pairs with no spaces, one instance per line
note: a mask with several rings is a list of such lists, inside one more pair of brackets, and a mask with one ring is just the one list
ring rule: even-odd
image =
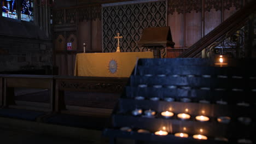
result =
[[153,52],[78,53],[75,76],[130,77],[137,58],[154,58]]

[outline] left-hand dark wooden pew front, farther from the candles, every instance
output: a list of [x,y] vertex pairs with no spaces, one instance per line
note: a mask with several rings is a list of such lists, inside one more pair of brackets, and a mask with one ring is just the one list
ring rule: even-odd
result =
[[[53,75],[6,75],[3,77],[3,106],[14,109],[53,112],[54,78]],[[50,101],[37,103],[15,100],[14,88],[45,88],[49,90]]]

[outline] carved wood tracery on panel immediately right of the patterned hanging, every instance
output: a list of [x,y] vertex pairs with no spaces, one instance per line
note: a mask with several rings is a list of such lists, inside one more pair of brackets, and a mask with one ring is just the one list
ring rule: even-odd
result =
[[174,13],[177,11],[178,14],[183,14],[184,12],[184,1],[181,0],[168,0],[168,14]]

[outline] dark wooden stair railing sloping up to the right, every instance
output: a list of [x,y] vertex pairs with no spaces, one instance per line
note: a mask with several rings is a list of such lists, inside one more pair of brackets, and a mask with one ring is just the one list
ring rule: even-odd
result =
[[226,37],[227,33],[232,33],[240,29],[245,25],[249,18],[249,15],[256,11],[256,1],[251,1],[245,5],[245,7],[238,10],[234,15],[230,16],[224,22],[213,29],[205,37],[197,41],[189,49],[184,51],[179,57],[199,57],[201,51],[206,49],[216,41],[221,41]]

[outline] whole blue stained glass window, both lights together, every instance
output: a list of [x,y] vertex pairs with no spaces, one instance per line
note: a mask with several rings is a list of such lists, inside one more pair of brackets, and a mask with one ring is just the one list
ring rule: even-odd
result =
[[[33,0],[0,0],[2,16],[22,21],[34,21]],[[0,9],[1,10],[1,9]]]

